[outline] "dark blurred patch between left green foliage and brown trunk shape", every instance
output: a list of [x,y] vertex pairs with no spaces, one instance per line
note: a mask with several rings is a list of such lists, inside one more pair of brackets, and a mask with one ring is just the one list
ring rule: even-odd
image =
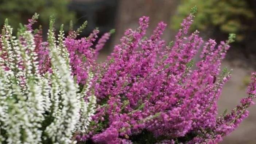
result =
[[115,15],[118,0],[73,0],[69,5],[70,11],[75,11],[77,19],[74,29],[81,26],[86,20],[88,25],[81,36],[87,36],[96,27],[100,35],[115,28]]

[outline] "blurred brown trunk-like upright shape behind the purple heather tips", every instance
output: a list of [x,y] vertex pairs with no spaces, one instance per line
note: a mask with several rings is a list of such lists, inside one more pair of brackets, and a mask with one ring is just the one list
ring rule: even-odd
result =
[[[167,42],[174,37],[170,29],[171,16],[175,13],[179,0],[120,0],[117,9],[116,34],[112,46],[119,43],[126,29],[138,27],[141,16],[150,16],[150,26],[147,35],[150,35],[157,23],[163,21],[168,26],[162,36]],[[113,48],[113,47],[112,47]]]

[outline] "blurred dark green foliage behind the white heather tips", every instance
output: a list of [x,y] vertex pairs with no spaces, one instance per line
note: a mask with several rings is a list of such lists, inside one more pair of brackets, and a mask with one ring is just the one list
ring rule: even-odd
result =
[[0,0],[0,26],[8,18],[15,30],[35,12],[40,14],[40,24],[48,25],[50,15],[55,15],[57,26],[67,24],[75,18],[75,13],[68,10],[69,3],[70,0]]

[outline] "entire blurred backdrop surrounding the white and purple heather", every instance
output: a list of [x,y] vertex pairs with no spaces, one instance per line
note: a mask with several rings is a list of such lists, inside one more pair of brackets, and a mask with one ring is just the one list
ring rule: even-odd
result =
[[[49,16],[57,18],[56,28],[62,23],[69,30],[70,20],[74,29],[88,20],[88,27],[81,36],[87,36],[95,27],[100,35],[112,28],[116,33],[101,51],[99,62],[113,50],[127,28],[136,28],[141,16],[150,16],[148,34],[159,21],[168,24],[163,38],[174,40],[182,19],[197,5],[191,31],[199,30],[201,36],[225,40],[229,33],[237,34],[236,42],[222,63],[233,69],[232,79],[225,85],[219,100],[219,112],[230,111],[246,96],[250,73],[256,70],[256,0],[0,0],[0,25],[8,18],[14,29],[19,23],[27,23],[35,12],[40,14],[39,22],[46,36]],[[36,27],[37,27],[36,26]],[[252,106],[249,117],[222,144],[255,144],[256,106]]]

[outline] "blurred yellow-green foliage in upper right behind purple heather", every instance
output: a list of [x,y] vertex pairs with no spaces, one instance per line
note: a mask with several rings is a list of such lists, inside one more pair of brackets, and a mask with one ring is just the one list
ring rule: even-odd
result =
[[247,30],[245,21],[255,18],[247,0],[181,0],[177,15],[172,17],[172,28],[180,27],[183,17],[187,16],[191,7],[198,7],[191,30],[207,31],[217,28],[224,34],[235,33],[237,40],[243,40],[241,31]]

